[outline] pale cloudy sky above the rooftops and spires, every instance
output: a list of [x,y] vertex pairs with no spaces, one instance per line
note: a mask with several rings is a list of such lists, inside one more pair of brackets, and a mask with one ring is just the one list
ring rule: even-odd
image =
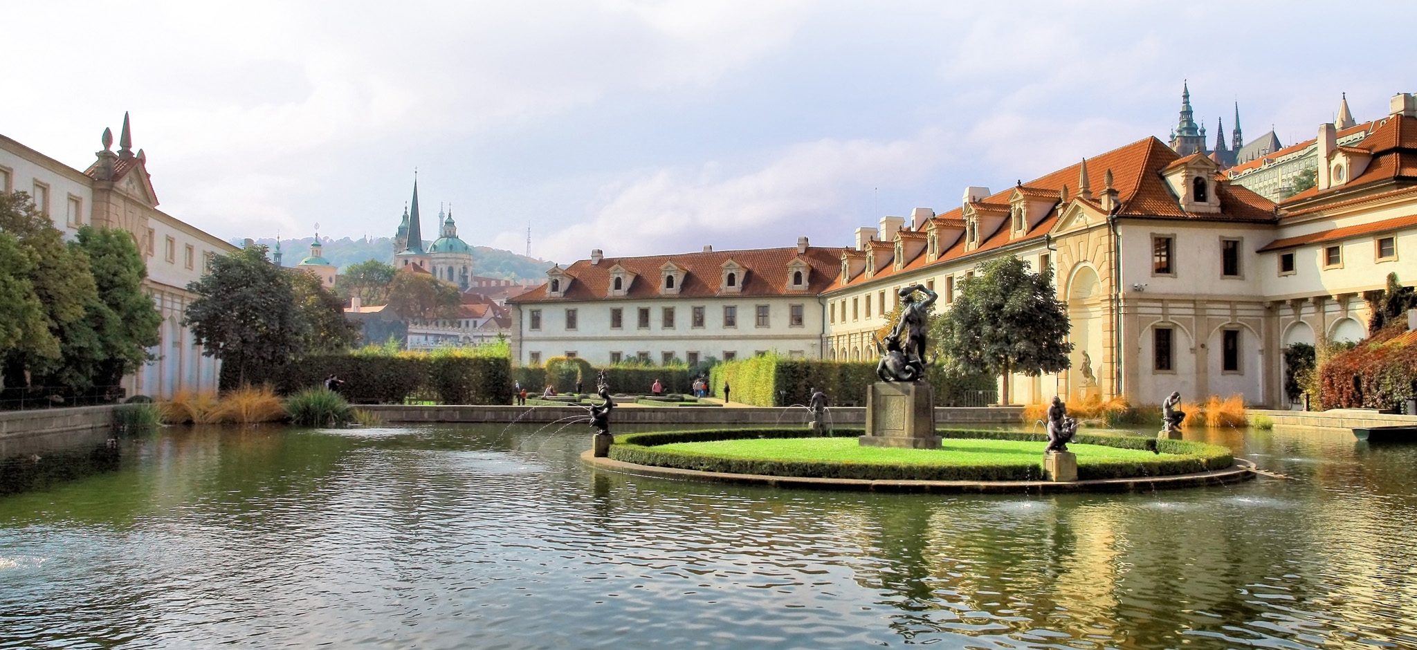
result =
[[[561,262],[846,245],[1175,125],[1289,144],[1417,88],[1417,4],[13,3],[0,133],[84,169],[125,110],[162,207],[222,238],[424,214]],[[1360,34],[1360,47],[1355,45]],[[425,227],[425,235],[429,232]]]

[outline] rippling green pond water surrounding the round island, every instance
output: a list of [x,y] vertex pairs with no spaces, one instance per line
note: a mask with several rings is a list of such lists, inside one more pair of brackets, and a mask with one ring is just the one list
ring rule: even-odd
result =
[[1417,647],[1417,446],[1289,479],[921,496],[592,472],[581,426],[0,449],[0,649]]

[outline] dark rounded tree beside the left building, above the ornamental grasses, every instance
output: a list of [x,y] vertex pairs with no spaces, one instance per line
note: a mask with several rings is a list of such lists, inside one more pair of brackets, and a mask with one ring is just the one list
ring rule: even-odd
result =
[[204,350],[222,364],[247,368],[283,364],[303,353],[307,334],[295,304],[290,275],[266,261],[266,248],[248,246],[211,261],[211,272],[187,285],[197,299],[187,306],[190,326]]

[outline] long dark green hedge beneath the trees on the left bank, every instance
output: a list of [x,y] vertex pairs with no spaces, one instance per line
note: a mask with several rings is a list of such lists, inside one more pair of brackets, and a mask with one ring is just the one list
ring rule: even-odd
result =
[[[237,388],[232,364],[222,364],[221,389]],[[340,394],[354,404],[512,404],[512,364],[506,357],[322,354],[264,368],[247,368],[248,384],[269,384],[281,395],[323,385],[336,375]]]

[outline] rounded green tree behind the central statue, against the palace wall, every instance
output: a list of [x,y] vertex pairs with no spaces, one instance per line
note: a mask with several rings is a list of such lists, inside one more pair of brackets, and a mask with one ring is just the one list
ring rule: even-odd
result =
[[999,404],[1009,404],[1010,374],[1037,377],[1070,365],[1073,344],[1066,343],[1067,334],[1053,269],[1030,273],[1029,263],[1016,256],[979,265],[934,329],[947,371],[1005,378]]

